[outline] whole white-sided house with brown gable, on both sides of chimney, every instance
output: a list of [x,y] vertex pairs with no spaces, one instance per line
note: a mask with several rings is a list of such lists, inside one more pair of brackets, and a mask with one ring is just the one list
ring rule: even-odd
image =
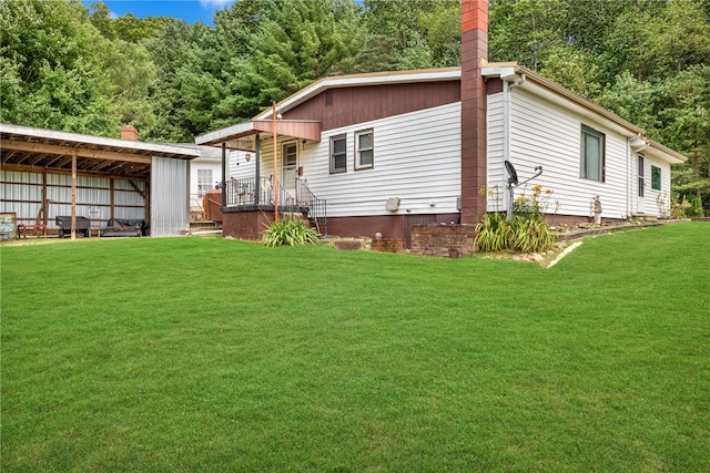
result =
[[[668,214],[670,166],[684,156],[516,63],[485,64],[481,74],[486,178],[485,189],[475,192],[488,191],[484,199],[488,212],[507,209],[504,163],[509,161],[520,181],[542,167],[527,189],[515,189],[514,198],[529,195],[536,185],[550,189],[546,210],[559,218],[588,222],[596,197],[605,219]],[[225,163],[227,200],[230,185],[251,189],[227,202],[227,207],[235,206],[229,212],[240,212],[240,206],[262,215],[270,212],[264,206],[273,206],[273,194],[255,202],[253,194],[258,193],[253,183],[258,181],[262,191],[272,192],[276,172],[286,195],[294,195],[298,183],[327,202],[328,228],[335,228],[335,235],[383,233],[404,238],[413,224],[463,220],[462,130],[470,122],[462,119],[460,70],[331,78],[275,106],[275,121],[273,110],[267,110],[252,122],[195,140],[231,148]],[[364,154],[358,143],[364,144]],[[230,225],[244,228],[243,223]]]

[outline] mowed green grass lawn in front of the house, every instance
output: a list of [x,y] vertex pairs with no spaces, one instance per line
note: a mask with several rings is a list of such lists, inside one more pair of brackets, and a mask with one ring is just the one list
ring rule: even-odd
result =
[[1,249],[1,470],[710,471],[710,225],[557,266]]

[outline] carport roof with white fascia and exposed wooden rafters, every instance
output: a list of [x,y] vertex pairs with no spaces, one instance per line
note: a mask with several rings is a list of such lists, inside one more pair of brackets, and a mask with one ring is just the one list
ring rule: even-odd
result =
[[0,123],[0,162],[6,171],[67,173],[74,154],[78,173],[145,179],[152,156],[193,160],[200,151]]

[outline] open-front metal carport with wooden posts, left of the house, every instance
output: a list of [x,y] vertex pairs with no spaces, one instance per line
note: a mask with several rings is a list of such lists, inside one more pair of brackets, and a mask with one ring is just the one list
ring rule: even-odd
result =
[[[189,228],[190,160],[200,151],[0,123],[0,205],[18,224],[58,215],[143,218],[152,236]],[[74,233],[72,232],[72,238]]]

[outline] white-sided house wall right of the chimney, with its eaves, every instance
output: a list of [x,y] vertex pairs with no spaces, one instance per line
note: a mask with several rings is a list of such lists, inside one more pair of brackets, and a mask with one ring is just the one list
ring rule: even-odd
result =
[[[670,166],[681,163],[683,156],[646,138],[645,131],[633,124],[517,64],[489,64],[484,75],[504,79],[503,91],[488,95],[489,188],[506,187],[503,162],[508,160],[520,179],[542,166],[542,175],[529,186],[552,191],[550,213],[591,217],[598,196],[602,218],[668,215]],[[582,169],[586,133],[600,138],[598,175],[585,176]],[[639,155],[643,156],[643,197],[639,197]],[[651,173],[657,176],[653,188]],[[525,191],[516,189],[515,197]],[[489,210],[507,208],[507,192],[500,193],[501,200],[496,200],[497,195],[489,195]]]

